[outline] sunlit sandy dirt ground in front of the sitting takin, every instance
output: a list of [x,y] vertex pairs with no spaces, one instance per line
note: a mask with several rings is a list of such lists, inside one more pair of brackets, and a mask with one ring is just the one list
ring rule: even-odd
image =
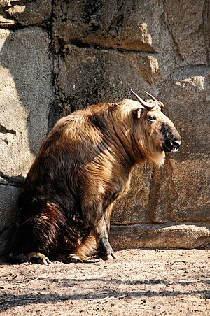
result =
[[116,254],[82,264],[1,264],[1,315],[210,315],[210,250]]

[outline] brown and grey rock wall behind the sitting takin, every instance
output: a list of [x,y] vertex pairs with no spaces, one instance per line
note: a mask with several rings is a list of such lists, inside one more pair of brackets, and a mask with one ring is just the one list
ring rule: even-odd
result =
[[130,89],[165,103],[183,145],[164,168],[135,168],[113,210],[113,246],[210,242],[209,34],[209,0],[0,1],[1,245],[52,125]]

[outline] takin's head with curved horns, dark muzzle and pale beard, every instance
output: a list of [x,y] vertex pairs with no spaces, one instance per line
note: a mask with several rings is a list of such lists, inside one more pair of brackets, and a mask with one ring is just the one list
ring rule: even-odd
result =
[[[151,100],[144,101],[136,93],[132,93],[140,102],[135,110],[137,117],[133,137],[138,141],[138,148],[146,159],[161,166],[165,161],[165,152],[176,152],[181,145],[181,136],[174,123],[162,113],[162,102],[151,96]],[[138,121],[141,125],[139,130]]]

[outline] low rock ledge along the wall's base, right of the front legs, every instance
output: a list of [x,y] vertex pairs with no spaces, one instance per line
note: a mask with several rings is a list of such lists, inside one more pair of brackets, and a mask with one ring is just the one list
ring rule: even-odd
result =
[[209,224],[162,224],[130,225],[111,227],[111,245],[115,249],[127,247],[143,248],[187,248],[203,247],[210,242]]

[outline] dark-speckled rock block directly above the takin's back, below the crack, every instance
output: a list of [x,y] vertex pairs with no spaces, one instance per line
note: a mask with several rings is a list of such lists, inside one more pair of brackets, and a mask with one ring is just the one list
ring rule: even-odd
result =
[[[153,62],[154,61],[154,62]],[[142,65],[142,67],[141,67]],[[158,76],[155,57],[66,44],[58,55],[56,96],[63,115],[102,100],[132,99],[130,88],[150,89]]]

